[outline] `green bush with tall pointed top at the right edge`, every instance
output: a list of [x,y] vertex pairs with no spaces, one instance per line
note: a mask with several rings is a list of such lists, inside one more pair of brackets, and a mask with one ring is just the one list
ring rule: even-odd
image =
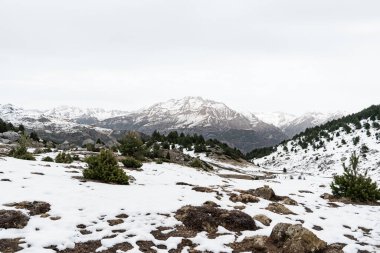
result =
[[335,197],[349,198],[354,202],[372,202],[380,200],[380,189],[376,182],[365,174],[358,171],[359,156],[354,152],[350,157],[348,167],[343,163],[344,173],[341,176],[334,176],[331,183],[331,190]]

